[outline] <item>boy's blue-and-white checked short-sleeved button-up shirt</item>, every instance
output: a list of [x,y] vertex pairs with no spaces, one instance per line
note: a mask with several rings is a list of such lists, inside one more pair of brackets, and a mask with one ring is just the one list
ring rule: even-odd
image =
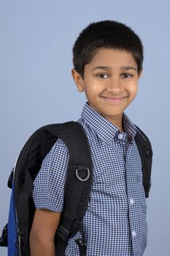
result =
[[[142,256],[147,246],[147,203],[142,186],[142,164],[134,137],[136,127],[123,113],[124,131],[90,108],[82,110],[93,160],[93,186],[83,218],[88,256]],[[36,208],[62,211],[69,151],[58,140],[42,162],[34,181]],[[75,239],[66,256],[78,256]]]

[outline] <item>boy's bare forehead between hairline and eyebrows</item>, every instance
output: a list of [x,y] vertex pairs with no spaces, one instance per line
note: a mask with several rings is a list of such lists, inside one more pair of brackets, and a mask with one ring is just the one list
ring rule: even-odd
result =
[[93,69],[95,66],[109,66],[113,69],[122,66],[132,66],[137,68],[137,64],[132,53],[126,50],[112,48],[100,48],[93,56],[92,61],[85,65],[85,68]]

